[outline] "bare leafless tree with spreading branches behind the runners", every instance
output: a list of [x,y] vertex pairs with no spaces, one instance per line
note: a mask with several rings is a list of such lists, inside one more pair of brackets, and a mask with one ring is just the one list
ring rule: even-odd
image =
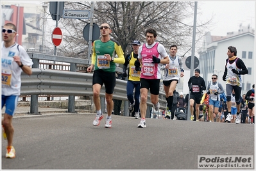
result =
[[[65,9],[90,10],[87,1],[65,2]],[[194,15],[194,2],[188,1],[110,1],[94,2],[93,22],[100,26],[107,22],[112,28],[112,38],[117,40],[125,54],[131,51],[133,40],[145,42],[147,28],[157,30],[157,41],[169,49],[171,44],[179,48],[180,56],[185,56],[191,51],[193,26],[185,24],[183,20]],[[198,40],[203,36],[203,31],[208,22],[198,24]],[[61,19],[60,24],[65,30],[64,44],[60,49],[66,56],[87,58],[88,43],[83,38],[83,28],[89,20]]]

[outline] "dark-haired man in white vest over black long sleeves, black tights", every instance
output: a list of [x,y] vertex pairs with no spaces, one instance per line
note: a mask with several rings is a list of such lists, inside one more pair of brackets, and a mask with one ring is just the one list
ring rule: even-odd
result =
[[242,90],[242,77],[241,75],[248,74],[248,69],[244,65],[243,60],[237,57],[237,49],[234,46],[228,47],[226,53],[228,58],[226,59],[225,72],[223,74],[223,81],[226,81],[226,104],[228,106],[228,115],[226,120],[231,116],[231,94],[234,89],[235,103],[237,107],[237,115],[235,117],[235,124],[240,122],[240,97]]

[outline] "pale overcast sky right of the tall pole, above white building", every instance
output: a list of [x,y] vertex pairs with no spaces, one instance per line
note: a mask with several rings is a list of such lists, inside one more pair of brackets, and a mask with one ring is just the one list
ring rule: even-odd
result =
[[239,25],[255,29],[255,1],[198,1],[197,20],[207,20],[214,15],[211,35],[226,36],[227,32],[238,31]]

